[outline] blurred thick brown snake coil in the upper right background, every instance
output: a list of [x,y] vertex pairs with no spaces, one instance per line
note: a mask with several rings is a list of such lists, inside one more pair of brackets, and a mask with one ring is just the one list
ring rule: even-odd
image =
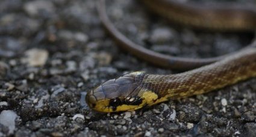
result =
[[170,0],[140,0],[149,10],[186,26],[214,31],[254,31],[256,29],[255,5],[231,2],[200,5]]

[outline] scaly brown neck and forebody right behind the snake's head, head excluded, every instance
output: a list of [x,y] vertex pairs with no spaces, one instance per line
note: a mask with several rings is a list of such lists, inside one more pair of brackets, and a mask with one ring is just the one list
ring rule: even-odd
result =
[[256,48],[244,50],[223,61],[176,75],[145,75],[142,89],[158,99],[180,98],[207,93],[256,76]]

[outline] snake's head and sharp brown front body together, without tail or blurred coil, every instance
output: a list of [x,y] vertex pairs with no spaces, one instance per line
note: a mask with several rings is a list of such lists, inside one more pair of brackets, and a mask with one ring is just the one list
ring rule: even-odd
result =
[[207,93],[255,76],[256,47],[248,47],[222,61],[175,75],[129,73],[90,91],[86,100],[90,108],[99,112],[133,111],[168,99]]

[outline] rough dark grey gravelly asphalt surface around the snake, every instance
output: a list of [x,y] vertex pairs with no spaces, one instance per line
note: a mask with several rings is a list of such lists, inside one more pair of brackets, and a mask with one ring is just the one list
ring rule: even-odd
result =
[[[149,14],[136,1],[109,1],[127,37],[161,53],[223,55],[252,34],[192,31]],[[118,49],[94,1],[0,1],[0,136],[256,136],[256,79],[152,108],[99,114],[87,91],[137,70],[161,69]]]

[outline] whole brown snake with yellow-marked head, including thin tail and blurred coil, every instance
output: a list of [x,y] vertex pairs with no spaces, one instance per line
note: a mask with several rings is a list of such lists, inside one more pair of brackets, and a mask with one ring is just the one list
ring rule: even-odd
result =
[[[191,28],[225,32],[256,29],[255,7],[236,4],[200,6],[174,0],[140,1],[160,16]],[[208,93],[256,77],[256,41],[237,52],[213,58],[163,55],[126,38],[108,19],[105,1],[99,0],[97,5],[102,24],[117,45],[152,64],[185,71],[171,75],[131,72],[110,79],[87,93],[86,102],[94,111],[135,111],[170,99]]]

